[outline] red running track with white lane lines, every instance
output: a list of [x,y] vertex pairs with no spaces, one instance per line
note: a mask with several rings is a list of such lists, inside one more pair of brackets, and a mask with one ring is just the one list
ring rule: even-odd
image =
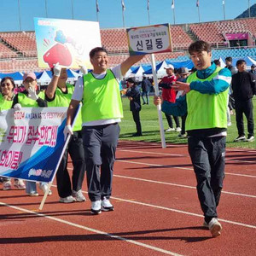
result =
[[[71,169],[72,164],[69,163]],[[222,235],[201,227],[186,145],[120,142],[113,212],[90,215],[90,201],[61,204],[0,192],[1,255],[255,255],[256,151],[228,148],[218,207]],[[83,191],[86,195],[84,180]]]

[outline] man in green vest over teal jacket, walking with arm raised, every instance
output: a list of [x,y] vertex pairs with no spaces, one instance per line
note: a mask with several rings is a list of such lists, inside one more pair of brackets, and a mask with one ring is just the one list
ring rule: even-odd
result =
[[[175,103],[163,102],[167,114],[188,113],[189,155],[197,180],[197,194],[204,212],[206,226],[213,237],[222,230],[217,207],[224,180],[225,141],[227,135],[227,103],[231,73],[211,64],[211,46],[197,41],[189,46],[189,55],[197,72],[189,75],[187,83],[176,82],[174,90],[183,90]],[[154,104],[160,104],[160,97]]]

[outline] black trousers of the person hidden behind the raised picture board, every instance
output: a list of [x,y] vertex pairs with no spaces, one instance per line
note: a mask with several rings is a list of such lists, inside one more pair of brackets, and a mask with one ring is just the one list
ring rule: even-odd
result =
[[[73,163],[72,183],[67,171],[68,153],[71,156]],[[72,190],[79,191],[82,189],[84,181],[85,160],[84,147],[81,131],[74,131],[73,136],[67,145],[66,151],[63,154],[61,164],[56,173],[57,189],[60,197],[72,195]]]

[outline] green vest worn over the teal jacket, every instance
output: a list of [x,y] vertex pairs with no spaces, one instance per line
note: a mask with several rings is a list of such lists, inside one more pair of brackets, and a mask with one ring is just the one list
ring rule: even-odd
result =
[[[189,75],[187,83],[210,81],[218,75],[220,70],[221,67],[217,67],[207,79],[199,79],[196,73],[192,73]],[[199,91],[190,90],[186,95],[188,106],[186,130],[226,128],[228,92],[229,88],[217,95],[201,94]]]

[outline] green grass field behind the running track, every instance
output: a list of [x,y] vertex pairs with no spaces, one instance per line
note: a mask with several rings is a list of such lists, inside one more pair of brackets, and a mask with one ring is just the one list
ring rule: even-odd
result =
[[[123,108],[124,108],[124,119],[120,123],[121,132],[120,132],[120,140],[132,140],[132,141],[143,141],[143,142],[154,142],[160,143],[160,126],[157,115],[157,108],[154,106],[153,97],[150,97],[149,105],[143,105],[143,108],[140,112],[141,123],[143,127],[143,136],[142,137],[131,137],[133,133],[136,132],[136,126],[132,119],[131,111],[129,110],[129,100],[126,97],[122,98]],[[256,98],[253,98],[254,105],[254,122],[256,122]],[[235,113],[235,111],[234,111]],[[162,113],[164,128],[165,130],[168,128],[166,117],[164,113]],[[173,121],[174,122],[174,121]],[[236,117],[235,114],[231,115],[232,125],[228,127],[228,137],[227,137],[227,147],[229,148],[256,148],[255,141],[252,143],[233,143],[233,140],[237,137],[237,129],[236,129]],[[181,125],[181,119],[180,119]],[[244,116],[244,126],[247,135],[247,119]],[[256,125],[255,125],[256,126]],[[254,134],[255,127],[254,127]],[[177,137],[178,132],[169,131],[165,133],[166,143],[187,143],[186,138]]]

